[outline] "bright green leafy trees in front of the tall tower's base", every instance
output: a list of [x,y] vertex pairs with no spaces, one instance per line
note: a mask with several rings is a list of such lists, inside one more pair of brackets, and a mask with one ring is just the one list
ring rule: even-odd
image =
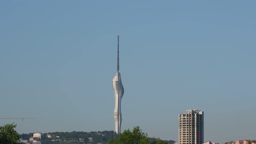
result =
[[137,126],[132,131],[125,130],[118,138],[110,139],[107,144],[150,144],[150,142],[148,134]]

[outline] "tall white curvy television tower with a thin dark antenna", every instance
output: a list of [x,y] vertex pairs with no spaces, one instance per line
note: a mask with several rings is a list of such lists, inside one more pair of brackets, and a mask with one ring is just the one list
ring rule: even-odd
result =
[[114,110],[114,119],[115,119],[115,132],[117,134],[121,133],[121,99],[124,95],[124,87],[121,81],[121,74],[119,72],[119,30],[118,30],[118,44],[117,44],[117,72],[112,80],[112,87],[115,93],[115,110]]

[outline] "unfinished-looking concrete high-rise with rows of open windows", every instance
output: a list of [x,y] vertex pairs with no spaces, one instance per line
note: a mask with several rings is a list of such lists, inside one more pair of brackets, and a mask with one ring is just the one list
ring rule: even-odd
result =
[[203,144],[203,111],[187,110],[178,123],[179,144]]

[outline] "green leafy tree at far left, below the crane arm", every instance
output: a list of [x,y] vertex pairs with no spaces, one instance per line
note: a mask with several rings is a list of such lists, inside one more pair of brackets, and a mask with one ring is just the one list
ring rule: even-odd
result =
[[19,144],[19,134],[14,130],[16,124],[0,126],[0,144]]

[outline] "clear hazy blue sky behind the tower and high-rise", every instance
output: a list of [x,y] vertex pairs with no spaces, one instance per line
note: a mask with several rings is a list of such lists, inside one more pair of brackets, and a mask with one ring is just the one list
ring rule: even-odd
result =
[[255,139],[256,2],[0,2],[0,116],[19,133],[114,130],[120,29],[122,131],[177,141],[204,111],[204,141]]

